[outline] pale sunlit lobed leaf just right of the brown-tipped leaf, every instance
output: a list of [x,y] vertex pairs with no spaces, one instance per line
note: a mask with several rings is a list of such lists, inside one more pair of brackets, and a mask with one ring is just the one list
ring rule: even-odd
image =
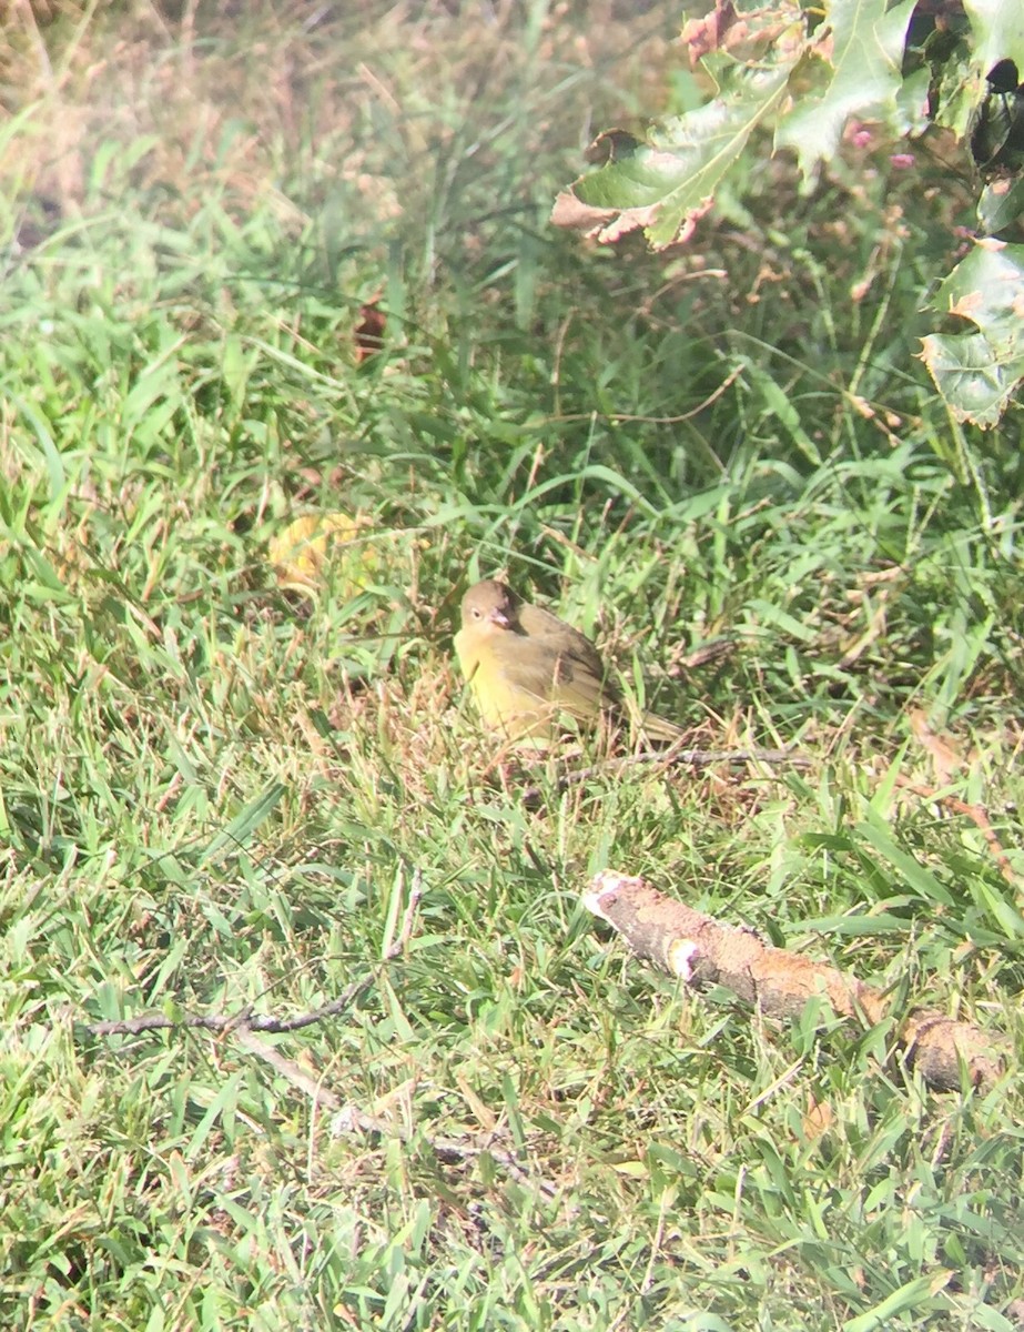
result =
[[895,121],[901,61],[915,0],[887,12],[886,0],[832,0],[826,8],[831,53],[822,43],[804,61],[820,96],[803,93],[779,123],[775,147],[792,148],[810,174],[835,155],[851,116]]

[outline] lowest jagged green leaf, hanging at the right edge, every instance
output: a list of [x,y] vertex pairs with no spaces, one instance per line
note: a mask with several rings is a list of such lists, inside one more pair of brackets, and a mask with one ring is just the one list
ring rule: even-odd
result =
[[1024,245],[981,241],[932,304],[979,332],[932,333],[921,358],[959,421],[993,426],[1024,378]]

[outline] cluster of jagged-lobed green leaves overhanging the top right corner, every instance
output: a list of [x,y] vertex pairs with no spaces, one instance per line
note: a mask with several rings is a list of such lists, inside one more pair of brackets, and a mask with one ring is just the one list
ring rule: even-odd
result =
[[981,238],[932,308],[976,332],[925,337],[923,360],[959,421],[995,425],[1024,377],[1013,313],[1024,245],[1011,240],[1024,213],[1024,11],[999,0],[775,0],[747,11],[716,0],[680,44],[704,80],[680,83],[678,100],[704,100],[639,135],[599,135],[594,169],[559,194],[553,220],[606,244],[642,230],[663,249],[688,241],[720,194],[748,188],[768,131],[772,152],[795,153],[811,188],[838,166],[851,125],[890,140],[944,129],[967,144],[983,181]]

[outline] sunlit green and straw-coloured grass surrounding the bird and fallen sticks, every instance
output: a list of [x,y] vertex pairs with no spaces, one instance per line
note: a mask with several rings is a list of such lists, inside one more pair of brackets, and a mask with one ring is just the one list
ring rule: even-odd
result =
[[[766,163],[690,249],[595,252],[550,201],[659,109],[672,7],[350,8],[13,31],[4,1327],[1008,1332],[1021,478],[1017,417],[959,430],[913,358],[956,182]],[[270,539],[334,510],[361,551],[282,590]],[[695,745],[808,766],[498,762],[450,635],[499,570]],[[976,1022],[1005,1078],[682,991],[583,910],[605,867]],[[262,1039],[362,1128],[230,1032],[87,1030],[361,980]]]

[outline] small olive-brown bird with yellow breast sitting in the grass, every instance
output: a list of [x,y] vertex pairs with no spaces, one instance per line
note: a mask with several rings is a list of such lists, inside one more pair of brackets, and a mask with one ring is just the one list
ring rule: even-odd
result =
[[[565,713],[582,722],[625,715],[622,693],[594,643],[495,579],[475,583],[462,598],[455,655],[483,722],[510,739],[550,739]],[[647,741],[671,743],[683,734],[654,713],[643,713],[639,725]]]

